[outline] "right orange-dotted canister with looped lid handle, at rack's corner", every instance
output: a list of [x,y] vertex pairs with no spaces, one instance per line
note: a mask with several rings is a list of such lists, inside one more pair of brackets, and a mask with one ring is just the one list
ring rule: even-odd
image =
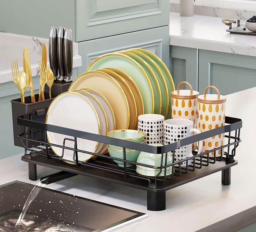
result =
[[[208,89],[214,89],[217,94],[206,94]],[[204,94],[198,96],[198,129],[201,132],[212,130],[225,125],[226,98],[220,95],[215,86],[208,86]],[[218,148],[224,144],[224,134],[219,134],[203,140],[203,152]],[[222,149],[224,152],[224,149]],[[209,154],[214,157],[214,152]],[[216,152],[216,157],[221,156],[221,149]]]

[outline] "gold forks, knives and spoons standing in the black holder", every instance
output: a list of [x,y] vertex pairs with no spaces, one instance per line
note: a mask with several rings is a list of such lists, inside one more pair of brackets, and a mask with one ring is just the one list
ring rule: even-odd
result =
[[[53,85],[53,72],[51,68],[46,68],[46,46],[42,44],[42,59],[41,62],[38,61],[39,66],[39,74],[40,74],[40,86],[39,86],[39,96],[38,101],[44,101],[44,86],[45,84],[49,87],[49,97],[51,98],[51,89]],[[11,61],[12,68],[12,78],[14,83],[16,83],[19,91],[20,91],[20,101],[25,103],[25,91],[27,88],[30,89],[31,93],[31,102],[35,102],[35,94],[33,88],[31,67],[30,67],[30,59],[29,59],[29,48],[25,47],[23,50],[23,72],[19,71],[19,66],[17,60]]]

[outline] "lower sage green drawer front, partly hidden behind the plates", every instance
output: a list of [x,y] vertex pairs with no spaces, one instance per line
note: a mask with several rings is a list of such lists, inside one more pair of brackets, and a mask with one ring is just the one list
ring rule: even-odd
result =
[[82,66],[78,67],[78,75],[83,73],[98,56],[134,47],[154,52],[169,67],[169,49],[167,49],[169,47],[169,26],[78,43],[78,53],[82,57]]

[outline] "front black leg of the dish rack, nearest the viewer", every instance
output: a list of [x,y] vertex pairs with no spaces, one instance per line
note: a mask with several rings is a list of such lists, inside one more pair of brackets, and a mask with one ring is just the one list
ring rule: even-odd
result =
[[147,210],[162,211],[165,210],[166,195],[163,192],[147,191]]

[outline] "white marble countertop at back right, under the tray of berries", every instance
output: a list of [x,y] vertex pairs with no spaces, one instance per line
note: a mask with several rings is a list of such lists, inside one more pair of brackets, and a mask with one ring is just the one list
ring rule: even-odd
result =
[[170,12],[170,45],[256,56],[256,36],[230,34],[221,20],[203,15],[182,17]]

